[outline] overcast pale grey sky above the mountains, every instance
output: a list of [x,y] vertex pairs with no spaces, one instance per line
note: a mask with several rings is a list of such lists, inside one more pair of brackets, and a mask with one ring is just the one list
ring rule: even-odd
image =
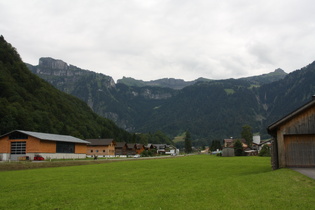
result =
[[0,34],[115,81],[289,73],[315,60],[315,1],[0,0]]

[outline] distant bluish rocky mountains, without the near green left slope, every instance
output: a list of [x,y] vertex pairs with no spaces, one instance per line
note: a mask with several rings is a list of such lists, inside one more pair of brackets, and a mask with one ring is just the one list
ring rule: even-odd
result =
[[145,82],[122,78],[117,83],[110,76],[53,58],[40,58],[38,65],[27,66],[123,129],[160,130],[170,136],[188,130],[201,142],[238,137],[245,124],[268,138],[268,124],[309,101],[315,92],[315,63],[290,74],[276,69],[239,79]]

